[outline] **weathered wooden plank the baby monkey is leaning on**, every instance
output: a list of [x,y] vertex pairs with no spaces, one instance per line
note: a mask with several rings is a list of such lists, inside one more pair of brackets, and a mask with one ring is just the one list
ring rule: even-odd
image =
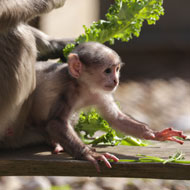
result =
[[[190,160],[190,142],[183,146],[175,143],[160,143],[148,147],[99,147],[99,152],[110,152],[121,159],[136,158],[136,154],[168,158],[177,151],[185,153]],[[112,169],[101,165],[101,173],[87,161],[73,160],[66,153],[53,155],[46,146],[29,147],[18,150],[1,150],[0,175],[53,175],[53,176],[99,176],[99,177],[133,177],[155,179],[190,180],[190,165],[162,163],[112,163]]]

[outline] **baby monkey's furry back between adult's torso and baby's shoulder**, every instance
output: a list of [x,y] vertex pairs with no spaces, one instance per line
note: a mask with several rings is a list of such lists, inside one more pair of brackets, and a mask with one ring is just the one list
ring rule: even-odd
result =
[[34,122],[47,120],[52,105],[61,94],[64,78],[67,80],[67,67],[60,63],[36,63],[36,89],[30,112]]

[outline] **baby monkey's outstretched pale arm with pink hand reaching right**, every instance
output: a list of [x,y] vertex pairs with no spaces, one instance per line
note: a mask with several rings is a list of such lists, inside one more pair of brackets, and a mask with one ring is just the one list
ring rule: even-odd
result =
[[[111,107],[112,109],[110,109]],[[186,138],[181,131],[177,131],[172,128],[167,128],[162,131],[152,131],[147,124],[139,122],[131,116],[122,113],[111,98],[104,100],[101,106],[99,106],[99,109],[103,117],[105,117],[113,127],[116,127],[125,134],[147,140],[175,141],[180,144],[183,144],[183,141],[176,139],[174,136],[181,137],[183,139]]]

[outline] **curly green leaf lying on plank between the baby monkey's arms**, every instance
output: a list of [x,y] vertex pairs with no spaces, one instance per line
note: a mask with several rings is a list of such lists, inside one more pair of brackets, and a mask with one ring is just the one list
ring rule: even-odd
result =
[[[127,146],[147,146],[145,140],[125,136],[112,129],[108,122],[104,120],[95,109],[89,112],[82,112],[79,121],[75,126],[75,131],[79,134],[85,144],[92,145],[127,145]],[[97,131],[105,132],[103,135],[94,138]],[[93,138],[92,138],[93,137]]]

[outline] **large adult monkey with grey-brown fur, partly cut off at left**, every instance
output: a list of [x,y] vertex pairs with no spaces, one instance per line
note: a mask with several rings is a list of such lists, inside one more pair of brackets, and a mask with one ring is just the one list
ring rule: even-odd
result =
[[63,41],[51,39],[27,22],[64,2],[0,0],[0,141],[22,134],[31,105],[29,97],[36,86],[37,52],[55,58],[65,46]]

